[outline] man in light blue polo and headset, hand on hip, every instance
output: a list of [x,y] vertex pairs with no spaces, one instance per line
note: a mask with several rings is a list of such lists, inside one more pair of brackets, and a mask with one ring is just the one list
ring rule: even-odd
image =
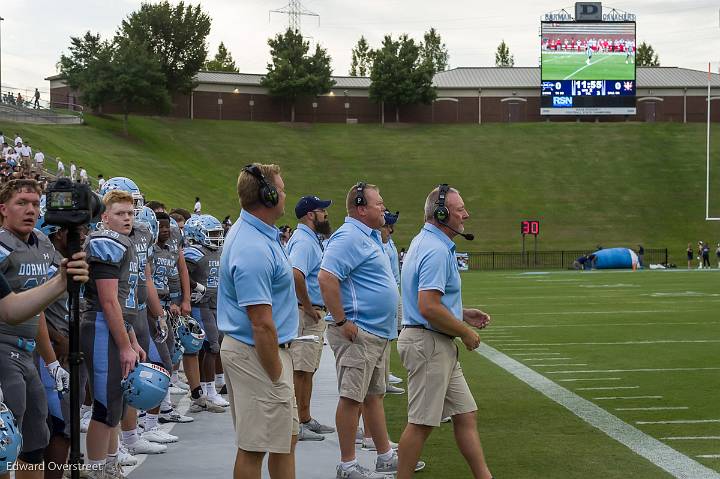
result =
[[318,275],[320,290],[333,322],[328,342],[335,353],[338,401],[335,425],[340,442],[338,479],[382,477],[360,466],[355,435],[360,405],[378,452],[375,470],[394,472],[397,455],[385,424],[385,354],[397,336],[398,290],[379,228],[385,206],[375,185],[358,183],[348,192],[348,216],[325,248]]

